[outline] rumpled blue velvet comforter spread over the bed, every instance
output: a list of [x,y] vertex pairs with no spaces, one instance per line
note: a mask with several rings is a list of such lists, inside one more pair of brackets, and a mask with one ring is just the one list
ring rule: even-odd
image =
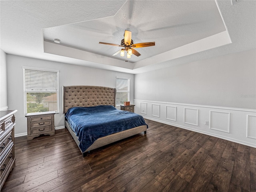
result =
[[65,118],[78,136],[82,152],[98,138],[147,125],[141,115],[118,110],[110,105],[72,107],[66,113]]

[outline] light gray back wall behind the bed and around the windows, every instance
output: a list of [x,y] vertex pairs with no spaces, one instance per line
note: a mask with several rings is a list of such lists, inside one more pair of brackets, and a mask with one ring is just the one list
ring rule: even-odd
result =
[[23,66],[59,70],[60,113],[55,114],[55,127],[64,128],[62,114],[62,86],[93,85],[116,87],[116,76],[130,78],[130,100],[134,100],[134,75],[96,68],[88,68],[59,62],[38,60],[7,54],[8,107],[16,109],[15,136],[27,134],[27,122],[24,117]]

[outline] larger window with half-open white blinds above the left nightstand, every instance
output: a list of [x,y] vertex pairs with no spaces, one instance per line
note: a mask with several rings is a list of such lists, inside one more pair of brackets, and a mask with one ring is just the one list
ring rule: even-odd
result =
[[24,113],[59,112],[59,72],[23,68]]

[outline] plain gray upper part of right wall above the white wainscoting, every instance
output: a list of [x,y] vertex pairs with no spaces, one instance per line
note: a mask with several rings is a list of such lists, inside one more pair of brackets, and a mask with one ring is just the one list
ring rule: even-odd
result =
[[134,82],[136,100],[256,109],[256,50],[136,74]]

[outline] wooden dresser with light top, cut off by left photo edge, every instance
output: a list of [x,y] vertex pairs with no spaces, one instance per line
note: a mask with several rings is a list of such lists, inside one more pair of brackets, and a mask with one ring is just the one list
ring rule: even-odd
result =
[[15,166],[14,125],[17,110],[0,111],[0,166],[1,189]]

